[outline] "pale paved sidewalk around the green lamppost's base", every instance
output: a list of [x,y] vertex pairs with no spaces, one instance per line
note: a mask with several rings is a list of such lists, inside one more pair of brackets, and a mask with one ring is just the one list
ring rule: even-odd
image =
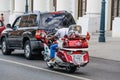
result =
[[89,55],[110,60],[120,61],[120,38],[106,36],[106,42],[99,42],[99,35],[91,35]]

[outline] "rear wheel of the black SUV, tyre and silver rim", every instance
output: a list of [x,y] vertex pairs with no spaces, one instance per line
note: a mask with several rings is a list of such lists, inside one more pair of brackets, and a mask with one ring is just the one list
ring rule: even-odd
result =
[[30,45],[30,41],[26,41],[25,45],[24,45],[24,54],[26,59],[32,59],[32,50],[31,50],[31,45]]

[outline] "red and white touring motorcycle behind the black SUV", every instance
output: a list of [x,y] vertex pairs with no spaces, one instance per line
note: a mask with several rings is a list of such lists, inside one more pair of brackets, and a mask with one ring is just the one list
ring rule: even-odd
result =
[[[78,68],[84,67],[89,63],[89,53],[88,53],[88,40],[90,38],[89,34],[87,36],[81,36],[78,30],[77,34],[74,30],[76,25],[72,25],[69,28],[68,36],[62,38],[62,48],[58,48],[55,53],[55,60],[50,63],[50,48],[48,44],[44,43],[44,60],[48,68],[53,69],[54,67],[65,68],[66,71],[73,73]],[[80,30],[80,26],[77,26]]]

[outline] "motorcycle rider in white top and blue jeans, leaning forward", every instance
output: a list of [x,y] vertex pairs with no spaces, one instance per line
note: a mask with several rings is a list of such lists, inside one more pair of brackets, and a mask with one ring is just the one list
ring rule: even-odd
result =
[[[77,35],[79,35],[80,36],[80,33],[81,33],[81,26],[80,25],[76,25],[75,27],[74,27],[75,25],[71,25],[70,27],[71,28],[74,28],[73,29],[73,32],[74,32],[74,34],[77,36]],[[58,47],[58,48],[62,48],[62,40],[61,40],[61,38],[63,38],[63,37],[65,37],[66,35],[69,35],[70,33],[68,33],[69,31],[68,30],[70,30],[69,28],[65,28],[65,25],[62,25],[62,28],[60,28],[56,33],[55,33],[55,35],[53,36],[53,37],[58,37],[59,39],[58,39],[58,41],[57,41],[57,43],[55,43],[55,44],[53,44],[53,45],[51,45],[50,46],[50,62],[54,62],[54,60],[55,60],[55,50],[56,50],[56,48]],[[52,37],[52,38],[53,38]]]

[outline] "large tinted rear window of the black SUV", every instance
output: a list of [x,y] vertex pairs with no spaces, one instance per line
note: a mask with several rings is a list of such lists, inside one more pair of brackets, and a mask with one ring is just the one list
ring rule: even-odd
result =
[[70,26],[71,24],[75,24],[75,21],[70,13],[46,13],[42,14],[41,16],[41,23],[43,27],[49,27],[49,26]]

